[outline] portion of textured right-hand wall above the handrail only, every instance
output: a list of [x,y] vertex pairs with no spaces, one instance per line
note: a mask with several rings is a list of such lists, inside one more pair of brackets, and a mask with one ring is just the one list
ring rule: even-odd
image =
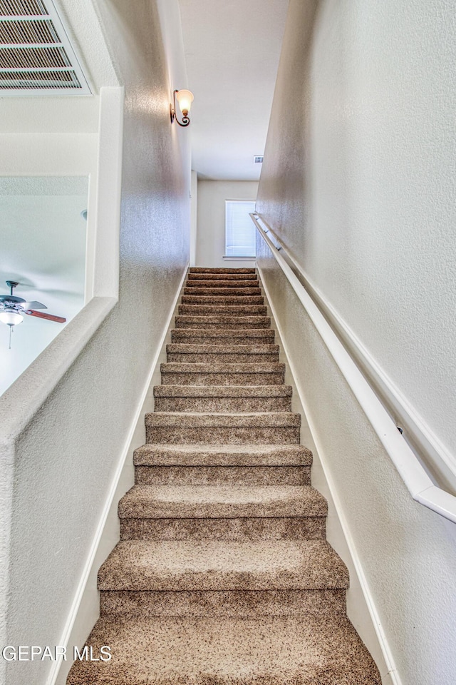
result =
[[291,4],[258,208],[456,455],[454,4],[314,6]]

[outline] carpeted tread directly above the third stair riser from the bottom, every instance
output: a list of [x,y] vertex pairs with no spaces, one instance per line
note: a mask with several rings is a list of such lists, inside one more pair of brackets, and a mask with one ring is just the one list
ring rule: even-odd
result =
[[142,445],[135,466],[310,466],[304,445]]

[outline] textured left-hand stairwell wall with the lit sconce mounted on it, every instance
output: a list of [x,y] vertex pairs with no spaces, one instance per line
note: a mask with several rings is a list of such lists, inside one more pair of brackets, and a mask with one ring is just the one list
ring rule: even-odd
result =
[[[59,644],[188,260],[188,138],[169,117],[182,45],[172,78],[157,2],[135,2],[135,12],[121,0],[94,4],[125,83],[120,299],[16,446],[9,644]],[[82,11],[74,21],[86,31]],[[7,682],[42,685],[50,667],[16,662]]]

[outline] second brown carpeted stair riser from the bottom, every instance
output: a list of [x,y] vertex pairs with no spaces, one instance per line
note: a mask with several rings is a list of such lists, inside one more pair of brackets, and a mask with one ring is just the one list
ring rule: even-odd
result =
[[324,517],[120,519],[122,540],[320,540]]

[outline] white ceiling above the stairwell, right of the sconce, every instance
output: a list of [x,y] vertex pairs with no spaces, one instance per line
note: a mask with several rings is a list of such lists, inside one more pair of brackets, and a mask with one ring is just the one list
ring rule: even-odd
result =
[[259,179],[288,4],[180,0],[199,178]]

